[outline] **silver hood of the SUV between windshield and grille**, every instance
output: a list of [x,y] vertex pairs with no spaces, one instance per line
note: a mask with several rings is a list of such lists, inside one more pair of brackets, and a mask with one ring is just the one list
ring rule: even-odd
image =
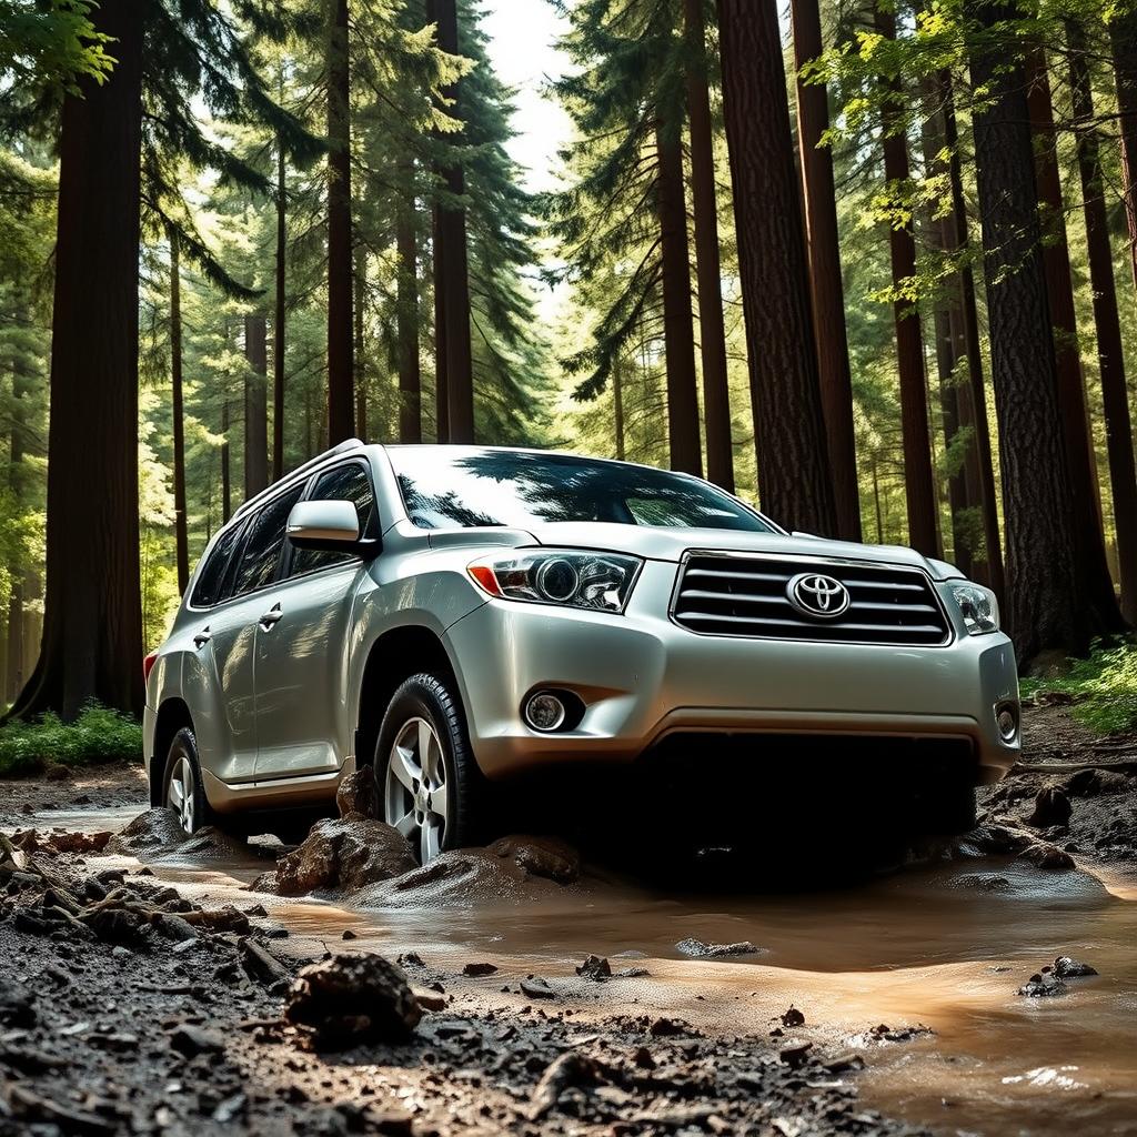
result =
[[664,529],[654,525],[615,525],[603,522],[549,522],[531,524],[539,545],[563,548],[605,549],[633,553],[648,561],[680,561],[688,549],[730,549],[739,553],[771,553],[786,557],[831,557],[844,561],[875,561],[923,568],[936,580],[960,573],[943,561],[933,561],[899,545],[858,545],[820,537],[785,533],[748,533],[724,529]]

